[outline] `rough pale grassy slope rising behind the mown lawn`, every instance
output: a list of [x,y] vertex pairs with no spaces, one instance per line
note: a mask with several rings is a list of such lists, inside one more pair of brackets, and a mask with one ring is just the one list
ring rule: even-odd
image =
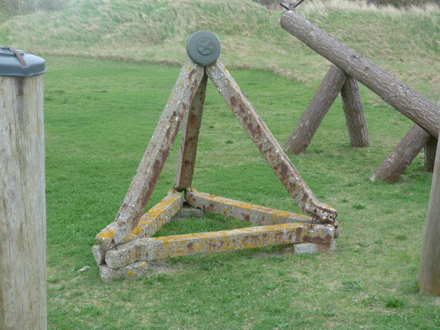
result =
[[[0,44],[35,54],[99,56],[180,65],[188,36],[210,30],[230,67],[270,69],[317,85],[327,61],[279,28],[281,7],[250,0],[79,0],[62,12],[36,13],[0,25]],[[408,85],[439,102],[440,10],[408,11],[362,2],[309,2],[299,12]]]

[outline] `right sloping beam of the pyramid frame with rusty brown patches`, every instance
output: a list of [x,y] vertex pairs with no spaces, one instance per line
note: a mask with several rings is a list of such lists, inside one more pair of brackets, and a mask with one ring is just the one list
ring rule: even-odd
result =
[[287,157],[283,148],[281,148],[265,122],[261,120],[259,113],[256,112],[251,102],[243,94],[228,69],[221,63],[221,60],[219,59],[212,65],[208,65],[206,74],[211,78],[212,83],[217,87],[236,118],[259,148],[261,154],[272,166],[287,191],[294,197],[298,206],[312,217],[327,223],[334,223],[338,212],[316,199],[314,193],[300,176],[292,161]]

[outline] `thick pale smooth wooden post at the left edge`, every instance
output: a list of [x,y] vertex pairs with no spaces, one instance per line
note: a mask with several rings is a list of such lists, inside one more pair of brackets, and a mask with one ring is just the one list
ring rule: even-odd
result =
[[43,330],[47,329],[43,74],[3,74],[0,52],[0,329]]

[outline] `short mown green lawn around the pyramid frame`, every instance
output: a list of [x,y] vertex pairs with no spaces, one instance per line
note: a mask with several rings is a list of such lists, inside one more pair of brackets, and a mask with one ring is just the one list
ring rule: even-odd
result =
[[[180,67],[45,59],[50,329],[440,329],[439,298],[417,288],[432,175],[421,154],[396,184],[369,181],[412,126],[371,92],[362,89],[371,146],[351,148],[338,98],[305,155],[289,155],[340,214],[336,252],[293,255],[285,246],[182,257],[157,261],[145,278],[102,283],[91,246],[118,212]],[[270,72],[230,72],[284,144],[316,89]],[[178,145],[148,208],[173,187]],[[212,83],[193,186],[300,212]],[[161,233],[241,225],[208,214]]]

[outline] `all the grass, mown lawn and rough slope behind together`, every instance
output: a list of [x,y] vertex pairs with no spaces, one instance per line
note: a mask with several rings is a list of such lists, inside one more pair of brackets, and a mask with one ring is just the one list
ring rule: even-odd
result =
[[[342,1],[302,7],[308,19],[439,104],[438,8],[377,10]],[[194,17],[184,16],[191,11]],[[439,298],[417,288],[432,175],[421,154],[396,184],[369,181],[412,122],[362,86],[371,146],[351,148],[338,98],[307,152],[289,155],[318,199],[340,214],[337,252],[293,255],[287,246],[190,256],[159,261],[139,280],[100,281],[94,237],[118,212],[192,32],[220,37],[230,73],[278,141],[287,140],[330,65],[283,32],[281,11],[250,1],[94,0],[9,15],[0,16],[0,43],[47,62],[50,329],[440,329]],[[156,25],[166,29],[157,42],[145,36],[157,33]],[[148,207],[172,188],[178,149]],[[212,83],[193,186],[300,212]],[[242,225],[208,214],[158,234]],[[91,269],[78,274],[85,265]]]

